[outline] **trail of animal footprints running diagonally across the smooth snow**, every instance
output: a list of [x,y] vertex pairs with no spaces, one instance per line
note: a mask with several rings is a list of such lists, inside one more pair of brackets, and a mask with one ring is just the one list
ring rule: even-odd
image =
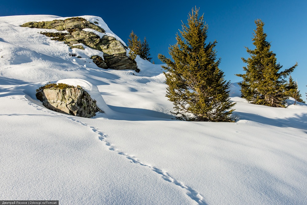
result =
[[28,104],[35,107],[37,110],[40,110],[40,111],[43,111],[43,112],[47,112],[47,113],[50,113],[50,114],[54,114],[54,115],[58,115],[58,116],[61,116],[61,117],[67,117],[68,119],[71,119],[72,121],[75,121],[77,123],[80,123],[82,126],[86,126],[86,127],[89,127],[91,128],[91,130],[94,132],[94,133],[97,133],[98,136],[99,136],[99,140],[103,141],[104,144],[106,146],[109,147],[109,150],[111,151],[115,151],[116,153],[120,154],[120,155],[123,155],[125,156],[127,159],[129,159],[131,162],[135,163],[135,164],[139,164],[139,165],[142,165],[142,166],[146,166],[146,167],[149,167],[151,168],[154,172],[162,175],[162,178],[168,182],[171,182],[183,189],[185,189],[187,191],[187,195],[194,201],[196,201],[199,205],[208,205],[205,200],[204,200],[204,196],[202,196],[199,192],[195,191],[194,189],[192,189],[191,187],[185,185],[183,182],[181,181],[178,181],[176,179],[174,179],[173,177],[171,177],[169,175],[169,173],[157,168],[157,167],[154,167],[152,165],[149,165],[149,164],[145,164],[141,161],[139,161],[136,157],[134,156],[131,156],[127,153],[123,153],[117,149],[115,149],[115,146],[114,145],[111,145],[108,141],[106,141],[106,138],[107,138],[107,135],[106,134],[103,134],[103,132],[101,132],[99,129],[93,127],[93,126],[89,126],[87,125],[86,123],[84,122],[81,122],[73,117],[69,117],[69,116],[63,116],[61,114],[57,114],[56,112],[52,112],[52,111],[47,111],[47,110],[44,110],[41,106],[38,106],[34,103],[32,103],[31,101],[29,101],[28,99],[22,99],[22,100],[25,100],[25,101],[28,101]]

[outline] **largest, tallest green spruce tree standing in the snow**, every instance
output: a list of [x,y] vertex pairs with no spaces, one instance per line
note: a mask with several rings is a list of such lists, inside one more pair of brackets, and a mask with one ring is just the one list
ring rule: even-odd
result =
[[216,59],[217,41],[206,43],[208,25],[199,9],[192,9],[187,25],[182,25],[177,43],[169,47],[172,59],[159,54],[166,64],[162,66],[167,84],[169,101],[179,120],[232,122],[229,116],[233,109],[229,98],[230,81],[224,80],[219,69],[220,59]]

